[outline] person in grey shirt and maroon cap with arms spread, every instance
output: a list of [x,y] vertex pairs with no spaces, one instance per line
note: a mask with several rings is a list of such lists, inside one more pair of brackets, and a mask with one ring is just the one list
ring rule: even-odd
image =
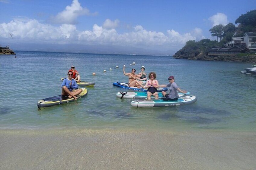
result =
[[169,94],[166,93],[165,91],[162,91],[163,96],[165,97],[163,100],[178,100],[179,98],[179,92],[181,93],[187,93],[187,91],[185,90],[181,90],[178,85],[174,82],[174,76],[170,76],[168,78],[169,80],[169,84],[167,85],[159,85],[159,87],[170,87],[169,90]]

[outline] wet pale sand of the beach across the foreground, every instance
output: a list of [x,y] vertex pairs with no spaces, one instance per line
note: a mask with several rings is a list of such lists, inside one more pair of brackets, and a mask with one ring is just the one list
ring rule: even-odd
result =
[[255,169],[256,132],[0,130],[0,169]]

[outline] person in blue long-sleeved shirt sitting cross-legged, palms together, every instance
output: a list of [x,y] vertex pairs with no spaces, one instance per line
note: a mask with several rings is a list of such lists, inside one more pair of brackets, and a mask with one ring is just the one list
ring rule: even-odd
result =
[[61,88],[62,88],[62,96],[68,96],[69,98],[73,97],[75,100],[77,99],[76,95],[82,93],[82,89],[78,89],[78,85],[74,79],[72,79],[73,73],[72,71],[68,72],[68,78],[64,79]]

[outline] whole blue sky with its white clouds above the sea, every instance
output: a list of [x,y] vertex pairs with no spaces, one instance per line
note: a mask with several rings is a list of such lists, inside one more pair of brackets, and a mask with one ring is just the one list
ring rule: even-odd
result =
[[0,45],[173,55],[189,40],[215,40],[209,29],[254,9],[255,0],[0,0]]

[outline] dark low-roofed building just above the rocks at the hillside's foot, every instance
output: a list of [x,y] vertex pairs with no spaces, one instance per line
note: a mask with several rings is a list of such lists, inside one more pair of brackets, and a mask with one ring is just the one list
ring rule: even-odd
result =
[[243,43],[233,44],[233,47],[223,45],[221,48],[213,46],[208,50],[208,56],[235,56],[239,53],[248,53],[250,50]]

